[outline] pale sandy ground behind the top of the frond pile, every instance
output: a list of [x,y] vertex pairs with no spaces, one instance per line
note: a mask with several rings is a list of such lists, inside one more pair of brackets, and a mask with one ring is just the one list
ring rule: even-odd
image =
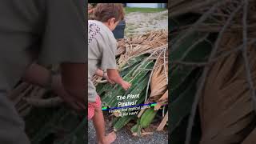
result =
[[168,29],[168,11],[126,14],[126,36],[144,34],[150,30]]

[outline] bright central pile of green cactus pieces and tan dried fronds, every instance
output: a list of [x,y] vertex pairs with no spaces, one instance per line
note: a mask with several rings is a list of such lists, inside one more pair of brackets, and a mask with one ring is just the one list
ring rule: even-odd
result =
[[[123,107],[157,103],[142,110],[134,107],[134,113],[131,115],[126,115],[127,112],[122,110],[114,110],[115,118],[112,122],[114,130],[121,130],[123,126],[133,121],[135,124],[130,130],[134,135],[149,134],[144,128],[149,127],[154,119],[159,121],[156,130],[163,130],[168,119],[167,31],[151,31],[148,34],[119,40],[116,59],[122,78],[132,86],[126,91],[118,84],[111,85],[102,81],[102,78],[94,76],[93,82],[102,98],[102,106]],[[126,96],[126,98],[118,99],[117,96]]]

